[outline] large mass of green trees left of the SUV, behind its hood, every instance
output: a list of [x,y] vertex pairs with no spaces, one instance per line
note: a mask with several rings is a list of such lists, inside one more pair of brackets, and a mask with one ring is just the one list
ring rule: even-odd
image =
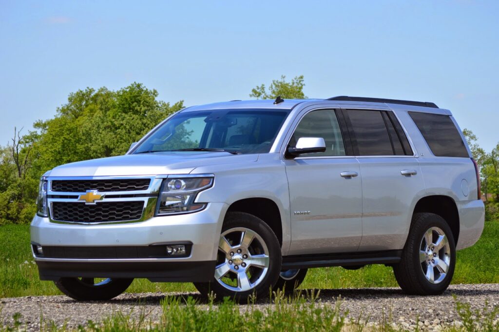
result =
[[0,225],[29,223],[38,180],[61,164],[124,154],[167,116],[183,108],[157,99],[158,92],[133,83],[118,91],[105,87],[70,93],[54,118],[34,123],[36,131],[0,147]]

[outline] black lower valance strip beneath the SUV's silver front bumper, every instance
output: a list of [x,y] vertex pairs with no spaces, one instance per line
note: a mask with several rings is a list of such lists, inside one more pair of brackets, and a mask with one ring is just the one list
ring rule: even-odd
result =
[[64,262],[36,261],[40,280],[64,277],[147,278],[154,282],[208,282],[215,261],[206,262]]

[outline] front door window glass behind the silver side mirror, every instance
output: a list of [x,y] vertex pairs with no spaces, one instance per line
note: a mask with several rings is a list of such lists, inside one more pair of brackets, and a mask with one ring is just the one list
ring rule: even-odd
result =
[[345,144],[334,110],[320,109],[307,113],[294,130],[289,145],[294,147],[301,137],[322,137],[326,151],[303,154],[303,157],[344,156]]

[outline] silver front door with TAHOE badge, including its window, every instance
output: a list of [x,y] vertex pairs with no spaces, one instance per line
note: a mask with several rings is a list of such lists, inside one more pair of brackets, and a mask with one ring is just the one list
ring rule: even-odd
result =
[[337,111],[304,112],[289,140],[322,137],[326,151],[284,158],[291,206],[288,255],[355,252],[362,237],[362,182],[354,156],[346,156]]

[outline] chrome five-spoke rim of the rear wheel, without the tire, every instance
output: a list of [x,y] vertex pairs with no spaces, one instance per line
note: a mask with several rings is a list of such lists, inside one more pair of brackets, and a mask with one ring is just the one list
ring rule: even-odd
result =
[[441,283],[447,276],[451,264],[449,240],[438,227],[425,232],[421,240],[419,261],[426,280],[432,284]]

